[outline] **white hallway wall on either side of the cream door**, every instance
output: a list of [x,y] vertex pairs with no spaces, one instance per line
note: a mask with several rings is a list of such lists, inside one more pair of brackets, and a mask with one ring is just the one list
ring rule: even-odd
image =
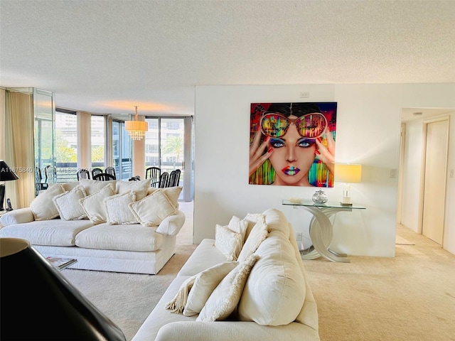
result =
[[[449,149],[446,178],[446,215],[444,217],[444,235],[442,246],[455,254],[455,112],[441,115],[449,116]],[[407,122],[405,134],[405,161],[403,165],[403,193],[401,223],[421,233],[419,230],[419,195],[422,182],[422,149],[424,119]]]

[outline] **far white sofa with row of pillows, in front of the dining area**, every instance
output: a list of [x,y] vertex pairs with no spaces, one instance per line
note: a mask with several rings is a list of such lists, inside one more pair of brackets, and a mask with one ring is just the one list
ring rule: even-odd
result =
[[185,222],[181,187],[141,181],[49,185],[30,207],[1,216],[0,237],[26,239],[43,256],[74,258],[72,269],[157,274]]

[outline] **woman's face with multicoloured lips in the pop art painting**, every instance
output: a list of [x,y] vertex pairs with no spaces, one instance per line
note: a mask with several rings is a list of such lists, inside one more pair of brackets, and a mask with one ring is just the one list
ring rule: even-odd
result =
[[311,186],[308,172],[314,161],[315,139],[300,136],[291,124],[283,136],[270,137],[269,146],[274,149],[269,157],[276,173],[274,185]]

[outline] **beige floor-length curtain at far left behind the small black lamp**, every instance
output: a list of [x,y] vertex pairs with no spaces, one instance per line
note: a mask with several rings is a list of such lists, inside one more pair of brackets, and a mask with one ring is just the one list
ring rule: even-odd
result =
[[6,182],[5,197],[16,209],[28,207],[35,197],[33,95],[6,91],[5,99],[4,161],[19,177]]

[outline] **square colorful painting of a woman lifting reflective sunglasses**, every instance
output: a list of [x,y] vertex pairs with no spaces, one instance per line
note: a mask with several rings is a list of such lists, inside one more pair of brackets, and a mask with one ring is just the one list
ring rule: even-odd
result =
[[336,102],[252,103],[251,185],[333,187]]

